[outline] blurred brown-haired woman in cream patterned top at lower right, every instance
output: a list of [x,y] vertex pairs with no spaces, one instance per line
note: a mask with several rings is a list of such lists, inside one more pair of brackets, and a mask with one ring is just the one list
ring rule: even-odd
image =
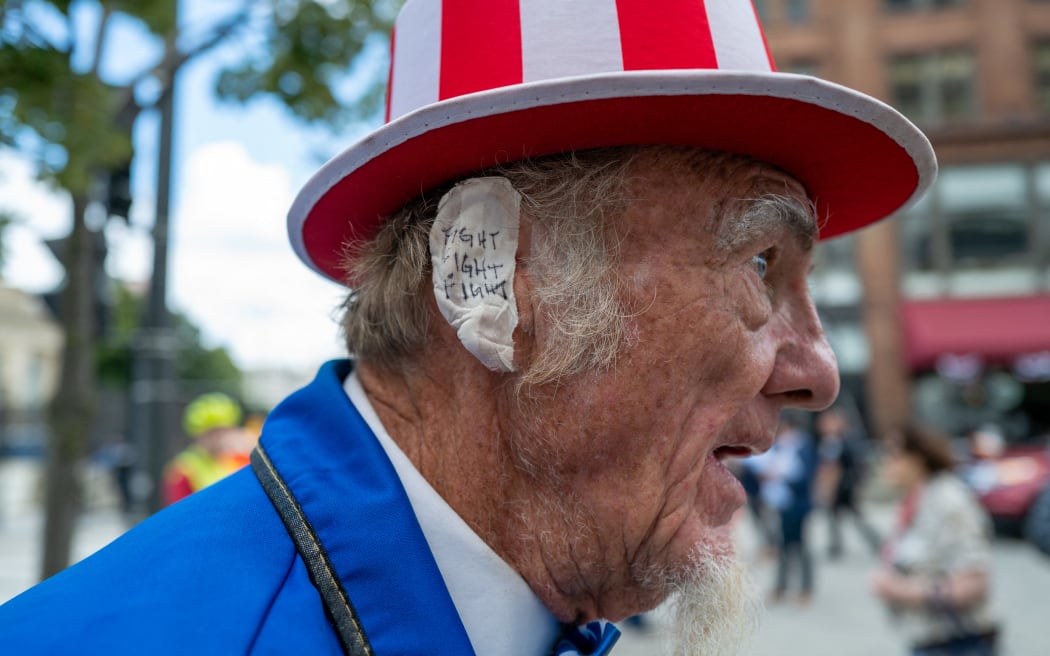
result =
[[953,473],[947,438],[905,426],[885,438],[885,475],[903,493],[873,589],[914,656],[991,656],[991,527]]

